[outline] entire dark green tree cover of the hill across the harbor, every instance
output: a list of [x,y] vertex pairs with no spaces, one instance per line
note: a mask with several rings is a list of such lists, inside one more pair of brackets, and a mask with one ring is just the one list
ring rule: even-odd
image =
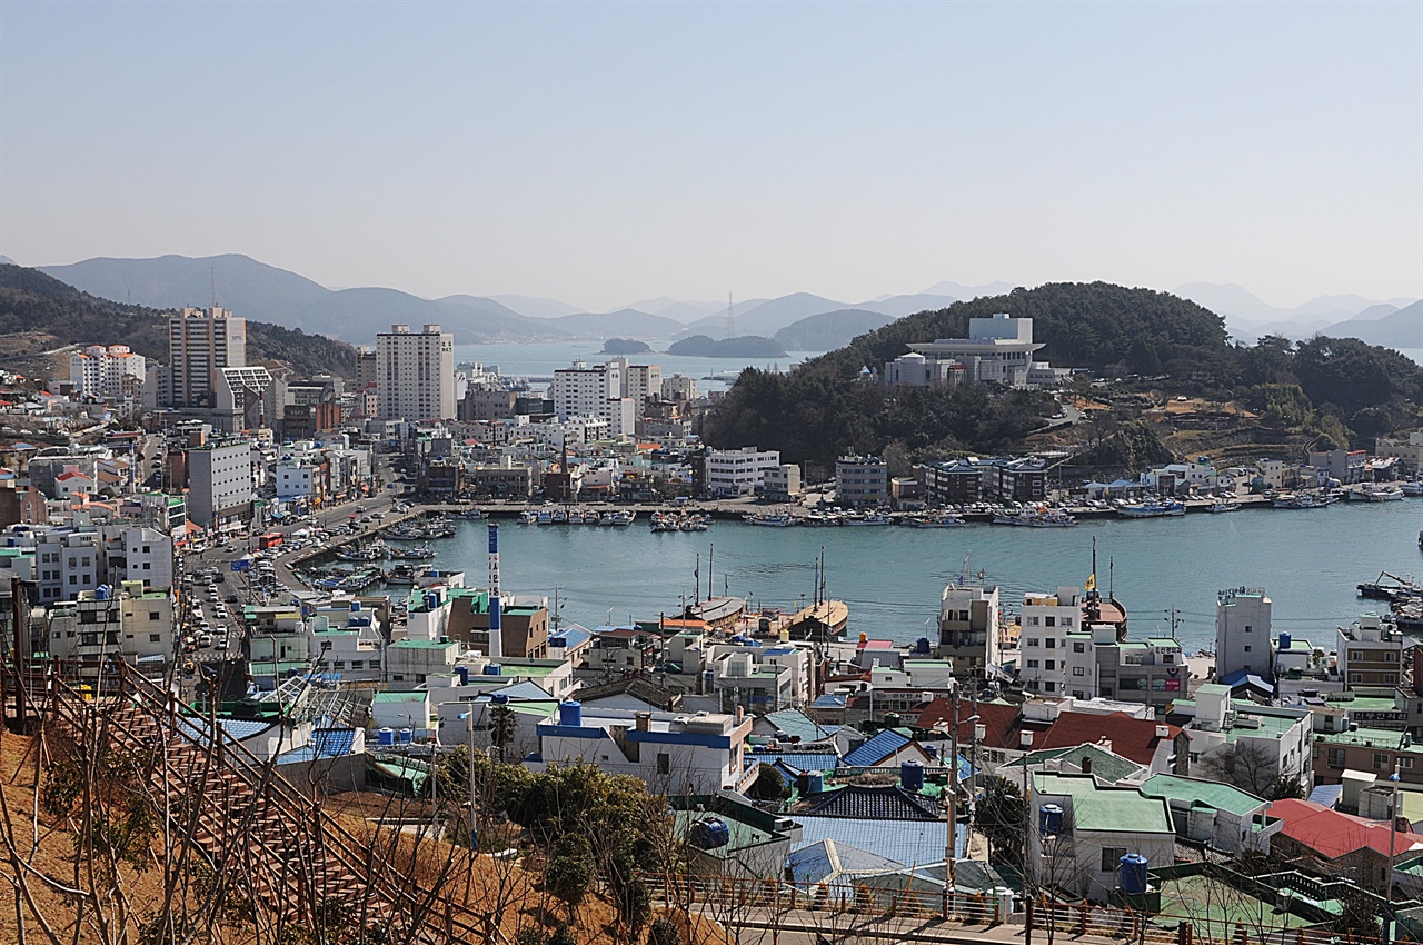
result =
[[[1221,317],[1194,302],[1094,282],[1016,289],[911,315],[785,374],[748,369],[706,418],[703,437],[719,448],[780,450],[793,463],[881,454],[891,468],[956,451],[1016,450],[1056,413],[1050,394],[996,384],[891,391],[862,374],[881,371],[911,342],[966,337],[970,317],[999,312],[1033,319],[1033,339],[1044,344],[1037,360],[1128,386],[1237,400],[1274,433],[1301,443],[1358,445],[1419,426],[1423,369],[1397,352],[1323,337],[1232,346]],[[1131,455],[1163,458],[1153,426],[1137,431],[1141,443]]]

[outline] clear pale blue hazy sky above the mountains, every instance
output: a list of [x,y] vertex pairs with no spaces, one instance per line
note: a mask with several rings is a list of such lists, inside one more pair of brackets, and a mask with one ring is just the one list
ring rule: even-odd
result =
[[0,253],[1423,295],[1423,3],[0,3]]

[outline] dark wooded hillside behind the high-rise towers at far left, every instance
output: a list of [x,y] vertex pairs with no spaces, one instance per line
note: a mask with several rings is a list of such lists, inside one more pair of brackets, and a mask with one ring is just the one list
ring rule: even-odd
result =
[[[166,363],[166,317],[158,309],[91,296],[37,269],[0,265],[0,334],[47,336],[53,339],[48,347],[127,344]],[[333,371],[353,377],[356,349],[323,334],[249,320],[248,363],[282,363],[299,374]]]

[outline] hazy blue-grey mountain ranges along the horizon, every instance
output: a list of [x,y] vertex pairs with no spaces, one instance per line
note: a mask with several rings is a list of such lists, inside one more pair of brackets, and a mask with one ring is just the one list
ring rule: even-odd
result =
[[[556,299],[517,295],[421,299],[397,289],[327,289],[242,255],[95,258],[40,269],[102,299],[162,309],[208,305],[216,289],[218,305],[245,317],[357,344],[373,343],[376,333],[388,330],[391,323],[437,322],[454,332],[458,344],[606,337],[670,342],[689,334],[724,337],[731,329],[731,334],[776,337],[787,350],[828,350],[905,315],[1013,287],[1006,282],[982,286],[941,282],[916,295],[852,303],[797,292],[778,299],[737,300],[729,323],[726,302],[656,297],[591,313]],[[1190,283],[1175,289],[1175,295],[1225,316],[1231,334],[1244,342],[1265,334],[1303,339],[1322,333],[1372,344],[1423,347],[1423,309],[1414,299],[1321,296],[1284,309],[1237,285]]]

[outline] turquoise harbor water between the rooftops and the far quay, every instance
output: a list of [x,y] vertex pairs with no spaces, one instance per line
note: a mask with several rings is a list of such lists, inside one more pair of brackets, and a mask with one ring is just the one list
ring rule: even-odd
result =
[[[1097,584],[1103,591],[1113,586],[1136,636],[1168,630],[1167,611],[1175,608],[1181,643],[1191,650],[1210,646],[1215,592],[1244,585],[1262,586],[1274,599],[1276,630],[1332,646],[1335,626],[1379,606],[1356,599],[1358,582],[1380,571],[1423,572],[1420,528],[1423,500],[1099,519],[1077,528],[717,522],[700,534],[653,534],[643,512],[629,528],[505,522],[499,558],[507,591],[548,595],[552,603],[558,589],[565,623],[598,626],[673,613],[683,595],[694,593],[699,554],[703,596],[710,572],[717,593],[748,595],[757,606],[795,606],[814,593],[814,562],[824,548],[827,592],[850,605],[851,632],[909,642],[925,635],[965,555],[972,555],[975,576],[982,569],[1005,603],[1016,606],[1025,591],[1080,586],[1091,571],[1096,538]],[[437,566],[464,569],[470,584],[482,585],[485,545],[482,522],[461,522],[454,538],[435,544]]]

